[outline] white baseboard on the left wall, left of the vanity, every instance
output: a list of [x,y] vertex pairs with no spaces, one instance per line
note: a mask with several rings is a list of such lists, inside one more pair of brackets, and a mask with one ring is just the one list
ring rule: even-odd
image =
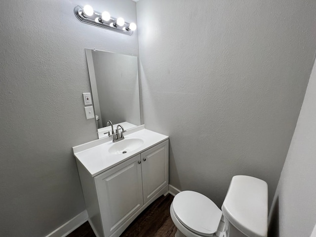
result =
[[79,213],[73,219],[67,221],[64,225],[60,226],[46,237],[65,237],[76,230],[84,222],[88,220],[88,213],[86,210]]

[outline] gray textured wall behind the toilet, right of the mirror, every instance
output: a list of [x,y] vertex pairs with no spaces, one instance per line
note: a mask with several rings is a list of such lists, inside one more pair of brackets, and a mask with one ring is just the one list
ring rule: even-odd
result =
[[146,127],[170,136],[170,184],[221,205],[232,176],[270,203],[316,49],[315,0],[137,2]]

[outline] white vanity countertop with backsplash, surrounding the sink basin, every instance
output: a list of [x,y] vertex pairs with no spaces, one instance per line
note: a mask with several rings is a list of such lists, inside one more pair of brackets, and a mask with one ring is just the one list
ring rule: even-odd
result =
[[74,155],[77,161],[94,177],[169,138],[168,136],[145,129],[144,125],[135,130],[131,129],[127,135],[124,134],[124,137],[139,138],[144,143],[134,151],[125,154],[110,154],[108,150],[114,143],[112,140],[109,141],[109,139],[103,138],[74,147]]

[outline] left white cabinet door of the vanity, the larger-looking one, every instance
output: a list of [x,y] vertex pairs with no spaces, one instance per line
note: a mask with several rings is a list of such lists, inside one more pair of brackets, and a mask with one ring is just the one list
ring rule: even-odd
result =
[[104,236],[115,232],[144,204],[140,155],[95,177]]

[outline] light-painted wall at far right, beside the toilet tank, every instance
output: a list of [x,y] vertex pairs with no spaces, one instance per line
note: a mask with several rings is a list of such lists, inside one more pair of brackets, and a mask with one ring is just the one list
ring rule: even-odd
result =
[[[316,64],[275,196],[275,236],[316,236]],[[277,220],[278,219],[278,220]],[[313,232],[313,233],[312,233]],[[312,233],[312,235],[311,235]]]

